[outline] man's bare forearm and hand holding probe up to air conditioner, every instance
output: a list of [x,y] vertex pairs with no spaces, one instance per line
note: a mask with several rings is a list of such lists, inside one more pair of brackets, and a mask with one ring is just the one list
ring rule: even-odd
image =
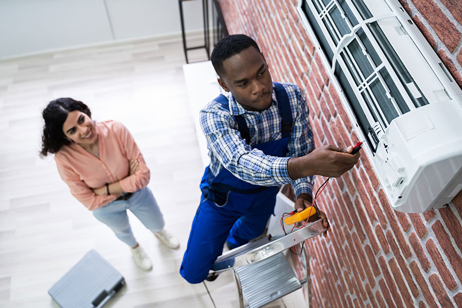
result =
[[292,179],[312,175],[338,178],[358,162],[361,155],[359,152],[351,155],[352,150],[353,146],[342,149],[324,145],[308,155],[293,157],[287,162],[289,176]]

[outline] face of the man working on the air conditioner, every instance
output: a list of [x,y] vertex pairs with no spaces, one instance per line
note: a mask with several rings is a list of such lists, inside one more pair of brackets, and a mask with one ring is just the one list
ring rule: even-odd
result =
[[271,106],[273,80],[257,49],[251,46],[229,57],[223,61],[223,68],[219,84],[245,109],[263,111]]

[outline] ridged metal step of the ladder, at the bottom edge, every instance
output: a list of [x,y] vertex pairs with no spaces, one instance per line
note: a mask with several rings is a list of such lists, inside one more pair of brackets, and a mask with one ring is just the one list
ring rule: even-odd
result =
[[249,308],[259,308],[301,288],[282,253],[235,270]]

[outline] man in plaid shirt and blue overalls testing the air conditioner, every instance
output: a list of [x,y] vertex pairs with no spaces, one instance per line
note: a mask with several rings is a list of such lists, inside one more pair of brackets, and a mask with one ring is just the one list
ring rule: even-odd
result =
[[[225,241],[232,249],[263,233],[280,185],[292,183],[295,208],[301,211],[311,206],[314,175],[339,177],[359,158],[359,153],[349,154],[351,146],[314,148],[303,92],[294,84],[272,82],[252,38],[223,38],[211,62],[230,94],[200,113],[210,165],[180,268],[190,283],[207,277]],[[325,214],[320,215],[328,227]]]

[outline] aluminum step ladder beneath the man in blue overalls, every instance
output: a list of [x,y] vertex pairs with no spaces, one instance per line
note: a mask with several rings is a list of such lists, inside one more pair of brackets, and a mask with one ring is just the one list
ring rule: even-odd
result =
[[[240,308],[259,308],[290,294],[306,283],[306,307],[311,306],[310,263],[305,240],[325,231],[322,220],[309,223],[291,234],[268,235],[219,256],[211,273],[233,271]],[[293,246],[303,249],[305,277],[297,278],[283,252]],[[244,300],[247,305],[244,305]]]

